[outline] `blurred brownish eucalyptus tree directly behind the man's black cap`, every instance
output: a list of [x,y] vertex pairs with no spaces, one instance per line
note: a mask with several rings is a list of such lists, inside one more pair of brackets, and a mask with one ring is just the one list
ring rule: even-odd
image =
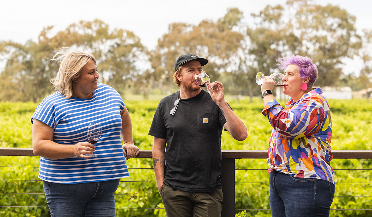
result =
[[208,59],[209,63],[203,69],[212,81],[218,80],[220,73],[230,66],[231,58],[243,39],[241,33],[231,29],[237,19],[239,17],[229,11],[218,22],[203,20],[199,25],[170,24],[168,32],[158,40],[155,50],[149,52],[153,68],[149,73],[154,81],[158,81],[158,87],[167,91],[174,87],[174,62],[185,53]]

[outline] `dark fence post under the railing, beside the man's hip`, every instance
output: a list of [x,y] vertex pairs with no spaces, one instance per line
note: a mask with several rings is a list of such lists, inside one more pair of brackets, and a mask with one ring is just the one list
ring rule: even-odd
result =
[[221,217],[235,216],[235,159],[224,158],[221,161],[222,201]]

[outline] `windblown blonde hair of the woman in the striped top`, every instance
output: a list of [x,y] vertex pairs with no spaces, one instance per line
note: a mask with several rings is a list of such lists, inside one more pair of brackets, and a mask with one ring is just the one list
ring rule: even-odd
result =
[[64,51],[68,48],[61,48],[56,51],[53,58],[49,59],[60,63],[57,74],[50,79],[54,89],[61,92],[62,95],[69,99],[72,95],[72,81],[81,75],[81,70],[88,63],[93,60],[97,65],[96,58],[92,54],[87,54],[81,51]]

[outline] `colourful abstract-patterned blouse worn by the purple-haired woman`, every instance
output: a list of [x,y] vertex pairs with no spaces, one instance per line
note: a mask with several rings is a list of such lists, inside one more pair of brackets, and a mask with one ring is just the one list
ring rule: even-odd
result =
[[264,107],[273,127],[269,142],[268,172],[277,170],[301,178],[323,179],[334,184],[331,137],[332,122],[327,100],[313,89],[284,109],[275,99]]

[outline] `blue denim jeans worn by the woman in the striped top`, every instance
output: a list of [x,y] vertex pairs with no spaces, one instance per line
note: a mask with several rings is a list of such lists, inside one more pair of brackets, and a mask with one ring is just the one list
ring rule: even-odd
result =
[[80,184],[43,181],[51,216],[115,216],[114,192],[119,181],[120,179],[115,179]]

